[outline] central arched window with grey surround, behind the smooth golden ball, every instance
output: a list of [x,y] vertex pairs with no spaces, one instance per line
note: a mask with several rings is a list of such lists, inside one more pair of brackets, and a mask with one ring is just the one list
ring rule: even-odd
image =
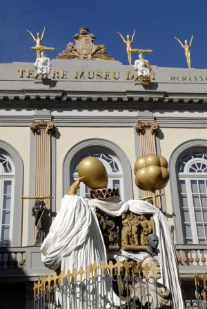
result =
[[[90,156],[100,159],[106,167],[108,188],[119,188],[123,200],[132,199],[132,171],[128,158],[119,146],[106,139],[86,139],[68,151],[63,161],[63,194],[78,177],[79,161]],[[79,194],[90,197],[90,188],[81,184]]]

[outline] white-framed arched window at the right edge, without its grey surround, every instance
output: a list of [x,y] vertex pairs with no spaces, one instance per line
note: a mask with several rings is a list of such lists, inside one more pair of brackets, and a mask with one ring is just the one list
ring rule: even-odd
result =
[[186,243],[207,243],[207,155],[191,151],[177,165]]

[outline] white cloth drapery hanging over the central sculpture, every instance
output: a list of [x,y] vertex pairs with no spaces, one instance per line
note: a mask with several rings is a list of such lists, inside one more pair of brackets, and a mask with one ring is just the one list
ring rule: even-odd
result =
[[[51,270],[56,270],[61,265],[61,270],[67,274],[74,268],[84,270],[90,263],[100,265],[101,261],[107,263],[106,247],[103,242],[99,222],[95,214],[95,208],[114,217],[121,216],[130,211],[137,215],[152,214],[155,221],[155,233],[159,237],[158,255],[161,268],[159,282],[166,286],[172,293],[173,306],[176,309],[183,308],[181,289],[177,268],[177,257],[172,242],[170,229],[166,218],[161,211],[146,201],[130,200],[121,201],[119,198],[101,201],[98,199],[83,199],[77,195],[65,195],[61,201],[61,208],[57,217],[52,222],[50,232],[41,246],[43,264]],[[139,254],[135,252],[117,252],[118,257],[130,257],[139,260]],[[99,301],[95,308],[110,308],[110,302],[120,306],[120,300],[112,292],[112,288],[105,286],[106,299]],[[103,292],[103,291],[102,291]],[[101,298],[101,291],[97,291]],[[97,295],[96,295],[97,296]],[[73,308],[67,299],[63,298],[63,309]],[[75,308],[90,308],[87,305]],[[92,307],[94,308],[94,307]]]

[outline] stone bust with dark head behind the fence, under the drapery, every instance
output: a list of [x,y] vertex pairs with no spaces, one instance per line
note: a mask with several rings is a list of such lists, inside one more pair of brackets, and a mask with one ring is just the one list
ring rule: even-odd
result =
[[161,270],[157,259],[159,239],[157,235],[150,234],[147,237],[147,242],[147,252],[149,255],[142,263],[142,268],[144,269],[143,276],[146,278],[146,281],[142,280],[141,283],[135,283],[132,297],[138,299],[142,306],[147,307],[147,303],[150,303],[151,309],[172,308],[170,290],[157,281],[161,278]]

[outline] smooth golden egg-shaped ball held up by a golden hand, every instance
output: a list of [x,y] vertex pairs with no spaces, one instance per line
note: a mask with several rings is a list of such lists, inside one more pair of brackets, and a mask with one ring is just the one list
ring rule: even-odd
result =
[[77,166],[79,177],[85,176],[83,183],[90,189],[107,188],[108,174],[103,163],[95,157],[83,159]]

